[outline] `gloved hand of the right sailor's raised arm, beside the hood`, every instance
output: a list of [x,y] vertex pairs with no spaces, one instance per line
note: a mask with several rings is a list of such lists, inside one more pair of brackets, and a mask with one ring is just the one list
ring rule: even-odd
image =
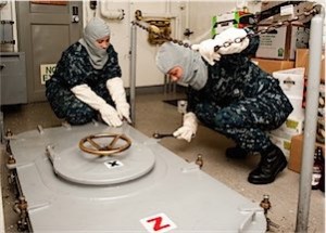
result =
[[210,64],[214,65],[215,61],[220,61],[221,55],[214,51],[217,46],[217,41],[214,39],[208,39],[199,44],[192,44],[191,49],[198,51],[201,56]]

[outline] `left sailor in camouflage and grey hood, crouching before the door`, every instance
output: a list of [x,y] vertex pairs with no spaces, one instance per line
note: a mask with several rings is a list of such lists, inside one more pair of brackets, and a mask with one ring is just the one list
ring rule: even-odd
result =
[[111,127],[130,122],[129,104],[121,78],[117,53],[110,44],[110,27],[93,17],[83,38],[70,46],[46,82],[46,95],[54,114],[72,125],[100,117]]

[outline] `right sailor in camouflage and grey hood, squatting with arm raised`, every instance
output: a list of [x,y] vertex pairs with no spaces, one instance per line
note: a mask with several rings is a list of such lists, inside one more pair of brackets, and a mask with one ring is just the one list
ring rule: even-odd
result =
[[187,113],[174,137],[190,142],[199,120],[236,142],[226,150],[227,157],[260,154],[248,181],[266,184],[287,166],[284,153],[266,132],[278,128],[292,106],[278,80],[250,61],[259,46],[259,37],[250,34],[249,29],[229,28],[193,44],[192,50],[165,42],[158,51],[156,65],[173,81],[189,85]]

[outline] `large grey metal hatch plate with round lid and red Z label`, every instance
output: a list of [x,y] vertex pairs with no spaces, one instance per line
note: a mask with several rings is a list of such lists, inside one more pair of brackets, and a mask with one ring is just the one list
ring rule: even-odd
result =
[[[110,170],[105,165],[106,157],[90,168],[86,160],[93,164],[95,159],[85,160],[80,156],[79,140],[102,132],[124,133],[131,139],[133,146],[124,152],[129,156],[117,159],[125,166]],[[128,179],[109,184],[80,183],[84,179],[80,177],[74,178],[77,181],[66,179],[53,169],[55,166],[47,155],[49,145],[53,147],[55,159],[62,159],[60,166],[66,173],[71,172],[70,168],[82,167],[87,168],[87,172],[90,169],[92,178],[104,176],[104,180],[118,180],[121,174],[124,176],[123,169],[127,168],[127,173],[130,171],[126,176]],[[266,220],[259,204],[128,125],[120,129],[89,124],[49,128],[41,133],[32,130],[12,139],[11,148],[34,232],[266,231]],[[71,161],[72,157],[78,159]],[[83,169],[72,173],[80,174]]]

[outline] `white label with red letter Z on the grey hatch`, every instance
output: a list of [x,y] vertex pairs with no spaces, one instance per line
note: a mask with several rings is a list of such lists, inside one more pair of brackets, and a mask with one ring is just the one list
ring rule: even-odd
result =
[[140,219],[140,222],[150,233],[163,233],[177,228],[176,224],[163,212]]

